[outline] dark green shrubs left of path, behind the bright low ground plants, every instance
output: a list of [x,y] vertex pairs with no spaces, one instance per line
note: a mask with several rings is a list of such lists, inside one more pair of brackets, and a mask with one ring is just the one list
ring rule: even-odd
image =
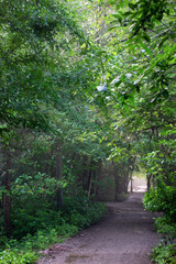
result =
[[55,190],[55,179],[48,179],[45,174],[16,178],[12,187],[12,238],[20,240],[28,233],[35,234],[66,223],[80,230],[105,213],[105,206],[92,202],[84,191],[76,197],[66,196],[63,209],[57,211],[53,205]]

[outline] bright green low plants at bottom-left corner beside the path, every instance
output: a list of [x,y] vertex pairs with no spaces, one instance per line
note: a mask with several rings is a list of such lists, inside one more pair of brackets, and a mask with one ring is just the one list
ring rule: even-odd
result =
[[37,231],[35,235],[28,234],[20,242],[16,240],[7,241],[7,249],[0,252],[0,264],[32,264],[34,263],[40,250],[46,249],[54,243],[62,243],[64,239],[78,232],[72,224],[63,224],[56,229]]

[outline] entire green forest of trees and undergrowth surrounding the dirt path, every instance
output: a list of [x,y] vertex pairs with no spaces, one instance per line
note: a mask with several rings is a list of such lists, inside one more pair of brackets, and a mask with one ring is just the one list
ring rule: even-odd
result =
[[176,263],[176,1],[0,1],[0,263],[34,263],[128,196]]

